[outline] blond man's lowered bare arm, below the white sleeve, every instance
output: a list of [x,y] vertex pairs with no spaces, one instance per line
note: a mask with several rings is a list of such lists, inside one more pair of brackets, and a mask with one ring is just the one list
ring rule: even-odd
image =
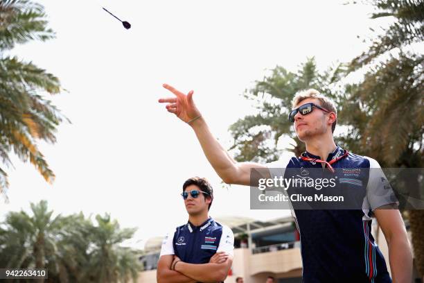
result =
[[393,282],[411,282],[412,251],[399,210],[376,209],[374,214],[389,246],[389,261]]

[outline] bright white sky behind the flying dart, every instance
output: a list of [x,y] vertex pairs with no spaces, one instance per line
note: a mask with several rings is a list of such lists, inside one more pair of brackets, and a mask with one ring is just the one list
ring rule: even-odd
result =
[[60,78],[68,92],[51,99],[72,123],[58,128],[56,144],[39,144],[53,185],[12,160],[10,203],[1,203],[0,215],[43,199],[62,214],[109,212],[123,227],[139,228],[135,246],[186,222],[179,194],[194,175],[215,188],[211,216],[288,214],[250,210],[247,187],[222,189],[193,130],[157,103],[168,96],[162,83],[194,89],[197,107],[229,148],[229,126],[253,111],[241,94],[266,69],[294,71],[313,55],[320,69],[351,60],[366,48],[357,35],[382,23],[371,22],[370,6],[335,0],[39,3],[57,38],[12,53]]

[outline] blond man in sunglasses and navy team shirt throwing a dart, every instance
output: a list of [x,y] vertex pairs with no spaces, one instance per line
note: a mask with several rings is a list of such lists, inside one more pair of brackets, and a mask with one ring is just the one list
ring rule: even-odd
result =
[[[346,171],[348,177],[339,180],[342,188],[364,189],[363,205],[358,209],[292,209],[301,236],[303,282],[391,282],[385,259],[371,234],[371,216],[376,217],[385,234],[394,282],[411,282],[412,252],[396,198],[392,191],[384,191],[387,180],[376,160],[348,153],[335,144],[337,111],[326,96],[309,89],[296,94],[292,101],[289,119],[299,139],[305,142],[306,153],[263,165],[231,158],[195,107],[193,91],[183,94],[170,85],[164,87],[175,96],[161,98],[159,103],[168,103],[168,112],[193,128],[206,158],[227,184],[251,185],[251,169],[267,169],[265,178],[279,178],[288,177],[289,169],[325,168],[331,173]],[[364,180],[351,177],[361,170],[369,171]]]

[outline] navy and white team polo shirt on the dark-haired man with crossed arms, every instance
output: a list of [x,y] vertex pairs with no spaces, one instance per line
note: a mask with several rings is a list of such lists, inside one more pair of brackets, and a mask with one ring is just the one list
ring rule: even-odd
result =
[[190,221],[168,233],[162,243],[162,255],[177,255],[189,264],[206,264],[216,252],[233,256],[234,234],[226,225],[209,218],[200,226]]

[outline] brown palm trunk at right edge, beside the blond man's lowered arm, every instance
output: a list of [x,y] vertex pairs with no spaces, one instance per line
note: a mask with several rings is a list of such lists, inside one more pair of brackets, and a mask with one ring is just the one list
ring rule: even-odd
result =
[[409,210],[409,225],[416,269],[424,277],[424,209]]

